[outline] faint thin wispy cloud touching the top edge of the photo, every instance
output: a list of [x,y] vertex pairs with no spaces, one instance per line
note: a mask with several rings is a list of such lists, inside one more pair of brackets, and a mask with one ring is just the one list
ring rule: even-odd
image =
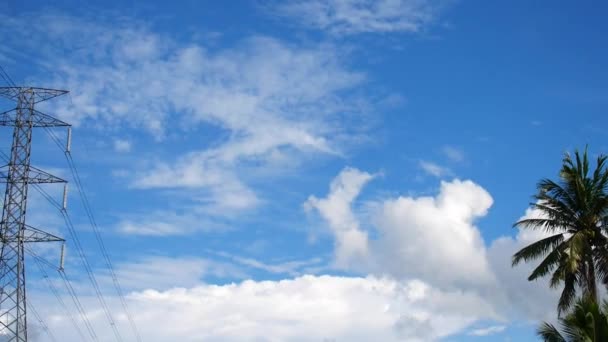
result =
[[432,23],[442,2],[428,0],[297,0],[270,11],[306,27],[334,35],[420,32]]

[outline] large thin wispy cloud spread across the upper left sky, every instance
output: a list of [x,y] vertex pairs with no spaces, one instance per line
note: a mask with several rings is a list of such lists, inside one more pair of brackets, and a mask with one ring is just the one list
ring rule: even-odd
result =
[[127,20],[48,14],[36,15],[36,27],[20,39],[30,20],[0,19],[6,23],[0,33],[40,54],[53,66],[51,83],[71,90],[71,101],[53,104],[62,119],[144,129],[159,141],[201,128],[219,137],[202,138],[167,160],[135,163],[139,172],[131,173],[135,188],[197,189],[209,213],[263,203],[244,174],[279,175],[310,155],[339,155],[352,131],[361,132],[353,123],[369,108],[353,92],[365,75],[328,44],[254,36],[210,48]]

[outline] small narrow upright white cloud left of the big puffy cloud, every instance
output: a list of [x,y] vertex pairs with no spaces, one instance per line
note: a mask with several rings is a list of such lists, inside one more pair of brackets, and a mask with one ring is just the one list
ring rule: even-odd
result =
[[345,267],[367,257],[367,233],[360,229],[359,221],[351,211],[351,203],[373,177],[369,173],[346,168],[331,182],[326,198],[310,196],[304,204],[307,211],[318,210],[329,223],[336,236],[335,261],[339,266]]

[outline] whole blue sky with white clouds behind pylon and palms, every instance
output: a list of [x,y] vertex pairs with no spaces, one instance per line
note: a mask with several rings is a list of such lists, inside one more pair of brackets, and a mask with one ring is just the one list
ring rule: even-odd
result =
[[[511,226],[565,151],[608,148],[606,9],[4,2],[0,64],[18,84],[70,90],[41,109],[74,124],[144,340],[531,341],[555,292],[511,269],[539,237]],[[36,165],[69,178],[36,133]],[[39,197],[29,222],[67,237]],[[75,191],[69,208],[130,341]],[[110,341],[67,243],[66,272]],[[40,253],[54,262],[54,248]],[[36,309],[78,341],[30,270]]]

